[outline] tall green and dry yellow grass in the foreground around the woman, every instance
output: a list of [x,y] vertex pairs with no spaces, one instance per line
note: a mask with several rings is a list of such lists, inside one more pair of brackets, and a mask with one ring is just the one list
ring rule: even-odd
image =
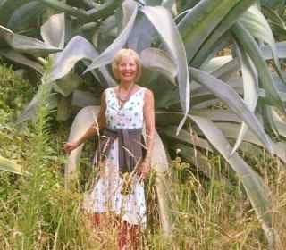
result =
[[[2,79],[16,78],[13,71]],[[22,82],[22,85],[25,86]],[[9,88],[9,87],[6,87]],[[6,89],[4,88],[4,89]],[[7,89],[6,89],[7,91]],[[11,90],[9,90],[11,91]],[[7,91],[8,92],[8,91]],[[2,97],[0,154],[14,159],[29,171],[28,176],[0,172],[0,249],[116,249],[117,230],[107,223],[101,234],[93,229],[81,209],[81,181],[72,190],[64,189],[65,157],[62,142],[69,122],[56,123],[45,105],[36,123],[18,129],[13,124],[26,100],[13,106]],[[55,127],[57,127],[55,129]],[[85,148],[81,179],[90,171],[92,144]],[[285,166],[265,154],[242,154],[263,177],[273,192],[274,226],[286,243]],[[147,229],[143,249],[266,249],[266,239],[239,179],[219,155],[208,155],[210,178],[174,155],[167,177],[171,192],[172,237],[160,230],[156,202],[155,173],[147,180]]]

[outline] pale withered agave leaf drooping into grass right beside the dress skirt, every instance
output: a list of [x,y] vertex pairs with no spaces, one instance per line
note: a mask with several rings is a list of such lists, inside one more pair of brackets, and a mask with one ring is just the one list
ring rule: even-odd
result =
[[[152,168],[156,171],[156,192],[164,237],[171,236],[170,191],[167,188],[166,171],[169,168],[168,158],[161,138],[155,133],[152,151]],[[168,196],[169,195],[169,196]]]

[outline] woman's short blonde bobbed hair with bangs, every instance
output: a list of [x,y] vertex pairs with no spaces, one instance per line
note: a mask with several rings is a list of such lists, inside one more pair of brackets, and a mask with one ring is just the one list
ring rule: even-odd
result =
[[130,48],[122,48],[114,56],[114,61],[112,63],[112,67],[113,67],[113,73],[114,73],[115,79],[119,79],[118,64],[122,60],[123,56],[130,56],[134,59],[136,65],[137,65],[137,75],[135,78],[135,82],[138,82],[138,80],[140,79],[141,74],[142,74],[142,65],[140,63],[139,54],[137,54],[134,50],[132,50]]

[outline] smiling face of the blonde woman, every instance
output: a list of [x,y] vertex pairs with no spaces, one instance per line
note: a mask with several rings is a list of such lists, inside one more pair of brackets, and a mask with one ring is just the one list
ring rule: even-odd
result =
[[120,82],[133,83],[137,77],[137,64],[133,57],[122,56],[117,66]]

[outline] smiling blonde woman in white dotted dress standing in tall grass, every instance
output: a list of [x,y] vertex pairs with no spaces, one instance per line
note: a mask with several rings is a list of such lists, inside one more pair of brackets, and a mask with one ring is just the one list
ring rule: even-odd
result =
[[[135,51],[120,50],[112,66],[119,85],[105,89],[97,121],[79,140],[65,144],[64,150],[70,154],[104,129],[95,157],[101,168],[100,175],[89,196],[91,203],[85,204],[85,208],[94,214],[97,225],[106,214],[118,215],[121,218],[119,248],[125,249],[128,245],[136,248],[139,229],[146,224],[141,179],[146,179],[150,171],[155,134],[154,96],[147,88],[137,85],[141,64]],[[144,122],[147,144],[143,155],[140,137]]]

